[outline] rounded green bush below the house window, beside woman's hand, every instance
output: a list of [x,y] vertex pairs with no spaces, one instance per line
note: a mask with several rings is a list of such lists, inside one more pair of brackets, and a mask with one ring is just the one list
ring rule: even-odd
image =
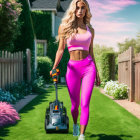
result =
[[48,56],[37,57],[37,73],[43,76],[45,82],[49,83],[51,80],[50,70],[52,69],[52,60]]

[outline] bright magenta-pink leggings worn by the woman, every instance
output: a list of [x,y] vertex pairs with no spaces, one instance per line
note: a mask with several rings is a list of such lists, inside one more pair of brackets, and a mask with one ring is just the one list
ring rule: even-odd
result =
[[87,125],[89,120],[89,103],[96,78],[96,67],[89,54],[82,60],[69,60],[67,63],[66,84],[71,99],[71,114],[77,120],[81,91],[81,116],[80,125]]

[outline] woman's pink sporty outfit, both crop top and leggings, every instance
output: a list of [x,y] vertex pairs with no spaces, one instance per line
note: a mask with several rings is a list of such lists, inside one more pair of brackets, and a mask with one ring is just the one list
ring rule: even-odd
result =
[[[87,50],[91,43],[92,34],[87,27],[84,34],[76,34],[74,38],[67,39],[68,50]],[[69,60],[65,75],[67,88],[71,99],[71,114],[73,120],[77,120],[80,104],[81,89],[81,116],[80,125],[87,125],[89,120],[89,103],[96,78],[96,67],[89,54],[82,60]],[[81,84],[82,82],[82,84]],[[81,87],[82,85],[82,87]]]

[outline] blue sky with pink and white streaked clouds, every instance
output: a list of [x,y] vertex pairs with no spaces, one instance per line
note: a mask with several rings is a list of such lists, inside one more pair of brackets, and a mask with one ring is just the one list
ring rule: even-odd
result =
[[94,44],[113,47],[140,32],[140,0],[87,0],[95,30]]

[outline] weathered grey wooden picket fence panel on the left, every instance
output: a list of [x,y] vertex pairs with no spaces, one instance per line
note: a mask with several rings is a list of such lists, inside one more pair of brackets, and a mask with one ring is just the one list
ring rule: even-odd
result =
[[23,52],[0,52],[0,88],[23,81]]

